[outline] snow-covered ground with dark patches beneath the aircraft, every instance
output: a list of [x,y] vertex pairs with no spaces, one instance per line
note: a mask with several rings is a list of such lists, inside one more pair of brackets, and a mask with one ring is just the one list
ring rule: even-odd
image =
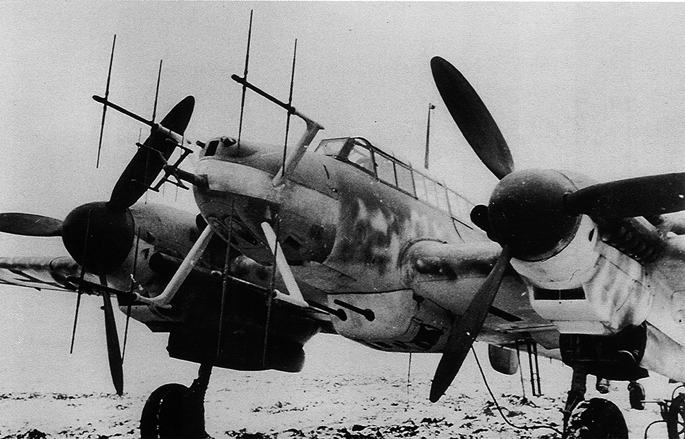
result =
[[[150,392],[168,382],[190,384],[197,365],[166,355],[166,335],[132,321],[124,360],[125,394],[110,381],[101,301],[84,297],[75,352],[69,355],[75,294],[0,288],[0,438],[137,438]],[[123,340],[125,318],[117,316]],[[521,377],[492,371],[484,345],[479,360],[512,423],[560,428],[571,371],[540,359],[544,397],[531,397]],[[503,421],[469,355],[438,403],[429,403],[438,355],[373,351],[338,336],[306,346],[301,373],[214,369],[206,396],[206,426],[214,438],[558,438],[550,429],[514,429]],[[523,359],[523,358],[522,358]],[[409,384],[409,385],[408,385]],[[670,397],[664,377],[643,380],[648,399]],[[598,396],[588,379],[588,397]],[[631,438],[660,418],[658,405],[630,410],[624,383],[608,395],[625,414]],[[665,438],[663,424],[649,438]]]

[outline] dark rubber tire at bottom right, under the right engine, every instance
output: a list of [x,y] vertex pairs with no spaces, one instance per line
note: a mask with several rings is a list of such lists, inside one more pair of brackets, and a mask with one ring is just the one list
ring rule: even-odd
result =
[[628,439],[628,427],[619,407],[603,398],[582,401],[575,407],[567,439]]

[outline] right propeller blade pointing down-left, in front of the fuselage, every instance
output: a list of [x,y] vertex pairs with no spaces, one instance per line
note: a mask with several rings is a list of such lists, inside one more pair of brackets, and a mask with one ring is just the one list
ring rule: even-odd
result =
[[495,295],[497,295],[497,290],[499,290],[499,285],[502,283],[511,258],[512,251],[509,246],[505,246],[493,271],[490,271],[488,278],[469,303],[469,308],[466,308],[458,323],[453,325],[447,340],[448,351],[443,353],[443,358],[440,358],[440,363],[438,363],[438,368],[433,377],[429,397],[431,402],[438,401],[445,394],[449,385],[452,384],[454,377],[457,376],[466,354],[469,353],[469,349],[473,345],[473,340],[483,327],[490,305],[495,300]]

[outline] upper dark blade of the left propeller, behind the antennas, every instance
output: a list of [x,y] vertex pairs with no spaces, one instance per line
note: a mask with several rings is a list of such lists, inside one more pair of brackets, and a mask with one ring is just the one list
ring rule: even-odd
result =
[[[169,114],[166,114],[160,125],[176,134],[183,135],[190,122],[193,108],[195,108],[195,98],[192,96],[184,98]],[[173,143],[167,142],[167,138],[155,129],[152,130],[143,143],[145,146],[138,148],[136,155],[116,181],[110,201],[107,203],[108,208],[115,211],[126,210],[145,194],[175,148]]]

